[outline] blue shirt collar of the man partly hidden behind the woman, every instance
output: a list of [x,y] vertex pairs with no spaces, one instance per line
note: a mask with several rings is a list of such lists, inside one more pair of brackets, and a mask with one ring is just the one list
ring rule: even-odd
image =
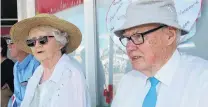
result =
[[29,62],[32,60],[33,56],[29,54],[23,61],[17,62],[17,66],[19,69],[25,69]]

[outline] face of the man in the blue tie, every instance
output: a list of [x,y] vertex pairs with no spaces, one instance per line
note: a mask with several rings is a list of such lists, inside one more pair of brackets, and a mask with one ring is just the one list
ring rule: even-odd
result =
[[[135,33],[146,32],[158,26],[158,24],[149,24],[134,27],[125,30],[124,36],[131,37]],[[169,35],[168,28],[164,27],[145,35],[144,43],[140,45],[135,45],[129,40],[126,45],[126,50],[132,67],[139,71],[151,71],[161,60],[164,60],[163,58],[165,57],[163,56],[166,55],[165,49],[171,44],[167,35]]]

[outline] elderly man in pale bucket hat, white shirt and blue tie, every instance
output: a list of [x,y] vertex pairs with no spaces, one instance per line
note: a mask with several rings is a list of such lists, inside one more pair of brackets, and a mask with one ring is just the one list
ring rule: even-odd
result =
[[111,107],[208,107],[208,62],[180,53],[187,32],[171,0],[139,0],[115,31],[133,70],[121,80]]

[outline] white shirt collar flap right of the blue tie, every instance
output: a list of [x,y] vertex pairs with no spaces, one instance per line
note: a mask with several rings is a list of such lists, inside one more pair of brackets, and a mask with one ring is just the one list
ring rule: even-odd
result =
[[172,82],[174,73],[177,71],[180,60],[180,53],[176,50],[168,62],[157,72],[155,78],[161,83],[169,86]]

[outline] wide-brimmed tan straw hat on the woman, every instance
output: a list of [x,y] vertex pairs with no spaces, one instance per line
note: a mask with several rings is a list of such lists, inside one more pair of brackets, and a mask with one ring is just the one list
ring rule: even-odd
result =
[[71,53],[78,48],[82,40],[80,30],[72,23],[59,19],[52,14],[38,14],[32,18],[24,19],[14,24],[10,30],[11,39],[20,49],[27,53],[32,53],[27,46],[26,40],[32,28],[37,26],[51,26],[60,31],[67,32],[68,43],[66,44],[66,53]]

